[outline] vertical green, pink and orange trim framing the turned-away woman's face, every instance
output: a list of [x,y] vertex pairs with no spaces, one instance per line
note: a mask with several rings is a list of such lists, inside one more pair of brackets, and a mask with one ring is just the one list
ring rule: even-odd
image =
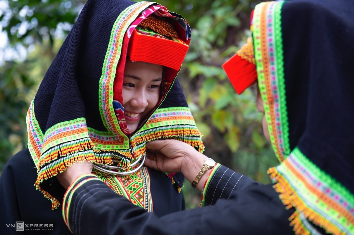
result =
[[281,35],[282,4],[284,2],[258,4],[252,19],[258,86],[264,101],[270,142],[279,161],[290,153]]

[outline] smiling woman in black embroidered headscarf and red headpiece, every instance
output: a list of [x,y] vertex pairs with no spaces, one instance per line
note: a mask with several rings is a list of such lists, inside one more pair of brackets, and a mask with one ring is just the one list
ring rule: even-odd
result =
[[173,138],[204,150],[176,79],[189,42],[187,21],[164,6],[87,1],[30,105],[28,148],[2,171],[0,221],[48,223],[52,234],[71,234],[56,210],[65,192],[57,177],[83,161],[146,211],[183,210],[184,176],[142,163],[151,140]]

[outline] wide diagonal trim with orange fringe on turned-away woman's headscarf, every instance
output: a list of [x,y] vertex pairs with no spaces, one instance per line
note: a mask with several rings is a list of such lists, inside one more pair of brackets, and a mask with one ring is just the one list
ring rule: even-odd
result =
[[311,234],[301,213],[329,233],[354,234],[354,196],[298,148],[268,173],[284,205],[296,208],[290,217],[296,234]]

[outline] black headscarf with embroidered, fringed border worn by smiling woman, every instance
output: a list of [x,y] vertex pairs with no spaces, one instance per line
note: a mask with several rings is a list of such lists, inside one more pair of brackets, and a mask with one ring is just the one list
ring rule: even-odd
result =
[[[201,133],[175,80],[187,49],[184,54],[174,55],[173,50],[162,51],[156,44],[148,48],[150,55],[157,52],[157,56],[169,61],[169,64],[161,64],[166,72],[160,101],[135,133],[126,128],[121,95],[125,60],[127,53],[131,53],[131,35],[137,33],[137,26],[149,16],[168,22],[177,33],[165,35],[164,40],[175,41],[188,49],[190,27],[187,21],[164,6],[153,2],[89,0],[31,102],[27,127],[28,148],[38,172],[35,187],[52,201],[53,209],[62,200],[54,186],[55,176],[75,162],[112,164],[112,160],[116,160],[119,166],[129,169],[132,161],[145,154],[145,142],[160,138],[175,138],[200,152],[204,150]],[[148,36],[161,35],[154,29],[148,30]],[[152,58],[149,52],[145,50],[141,54],[145,59]],[[131,57],[134,55],[131,53]],[[114,101],[120,105],[118,108],[113,107]],[[151,210],[134,201],[124,184],[127,178],[142,178],[143,172],[125,177],[112,177],[95,170],[93,173],[117,193]],[[172,182],[177,183],[180,190],[183,175],[174,175]]]

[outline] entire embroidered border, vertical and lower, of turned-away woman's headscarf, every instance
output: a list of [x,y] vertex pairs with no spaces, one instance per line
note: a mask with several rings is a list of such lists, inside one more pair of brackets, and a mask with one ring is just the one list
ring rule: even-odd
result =
[[354,232],[353,195],[313,164],[300,149],[295,148],[290,153],[281,35],[283,4],[258,4],[252,19],[258,86],[265,101],[270,141],[282,162],[268,173],[284,205],[296,208],[290,217],[296,234],[311,234],[311,226],[305,218],[331,233],[350,234]]

